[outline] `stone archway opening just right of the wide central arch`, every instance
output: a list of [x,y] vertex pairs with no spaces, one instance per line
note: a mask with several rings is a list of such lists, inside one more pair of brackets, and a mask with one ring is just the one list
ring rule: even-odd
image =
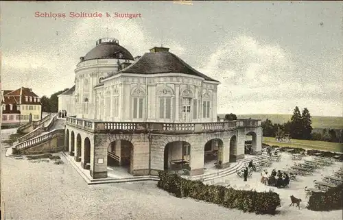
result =
[[223,162],[224,143],[220,138],[213,138],[204,145],[204,167],[220,168]]

